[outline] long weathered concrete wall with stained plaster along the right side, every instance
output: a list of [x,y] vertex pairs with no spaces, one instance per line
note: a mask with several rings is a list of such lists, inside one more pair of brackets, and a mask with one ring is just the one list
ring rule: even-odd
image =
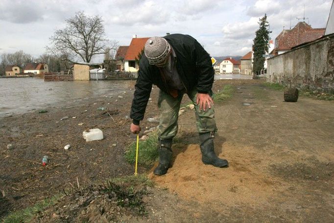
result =
[[267,81],[334,92],[334,34],[268,59]]

